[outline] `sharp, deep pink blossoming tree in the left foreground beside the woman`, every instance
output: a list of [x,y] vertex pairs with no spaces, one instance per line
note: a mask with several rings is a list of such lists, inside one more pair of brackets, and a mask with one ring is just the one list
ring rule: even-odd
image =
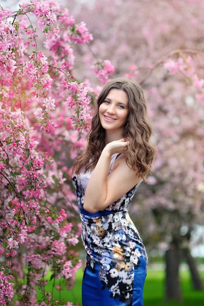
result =
[[[63,277],[71,290],[81,266],[75,250],[81,227],[65,160],[84,145],[97,95],[72,74],[72,44],[93,36],[52,0],[33,0],[15,12],[0,6],[0,32],[0,304],[17,294],[15,305],[37,306],[37,286],[41,306],[59,305],[46,293],[44,276],[50,269],[53,286]],[[104,83],[114,67],[100,61],[92,70]]]

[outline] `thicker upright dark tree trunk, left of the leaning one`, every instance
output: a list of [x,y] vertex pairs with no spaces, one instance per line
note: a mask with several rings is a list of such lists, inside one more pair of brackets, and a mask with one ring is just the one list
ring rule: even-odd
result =
[[180,249],[169,249],[165,253],[166,261],[166,300],[182,301],[179,283],[179,264],[182,257]]

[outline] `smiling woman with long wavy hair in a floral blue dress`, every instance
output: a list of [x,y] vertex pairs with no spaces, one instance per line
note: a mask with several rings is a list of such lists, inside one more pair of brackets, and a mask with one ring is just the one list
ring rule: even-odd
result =
[[143,305],[148,258],[128,207],[151,170],[151,133],[142,87],[123,78],[107,83],[73,166],[86,250],[83,306]]

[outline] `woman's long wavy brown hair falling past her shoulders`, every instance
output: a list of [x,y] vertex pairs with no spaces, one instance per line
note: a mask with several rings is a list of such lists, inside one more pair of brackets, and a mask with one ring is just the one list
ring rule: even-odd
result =
[[75,161],[73,172],[79,174],[82,167],[85,167],[85,172],[96,167],[105,147],[105,129],[99,119],[99,107],[111,89],[120,89],[127,93],[129,113],[123,125],[122,134],[126,141],[130,141],[126,150],[126,163],[146,182],[145,176],[148,172],[151,173],[151,165],[155,157],[155,149],[150,140],[152,127],[147,118],[147,106],[141,85],[125,78],[111,80],[103,87],[88,133],[87,147]]

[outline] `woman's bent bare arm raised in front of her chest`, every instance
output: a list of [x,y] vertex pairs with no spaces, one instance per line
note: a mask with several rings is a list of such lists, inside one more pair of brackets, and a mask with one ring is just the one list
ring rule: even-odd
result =
[[[117,150],[120,152],[120,149]],[[105,209],[140,181],[138,175],[127,166],[125,155],[118,167],[107,176],[113,151],[111,145],[103,149],[86,187],[84,209],[90,213]]]

